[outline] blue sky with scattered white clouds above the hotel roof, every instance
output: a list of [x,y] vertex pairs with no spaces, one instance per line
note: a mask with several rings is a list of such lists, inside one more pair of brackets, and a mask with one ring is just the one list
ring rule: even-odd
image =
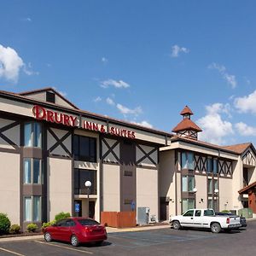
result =
[[256,144],[255,1],[1,1],[0,90],[53,86],[79,108]]

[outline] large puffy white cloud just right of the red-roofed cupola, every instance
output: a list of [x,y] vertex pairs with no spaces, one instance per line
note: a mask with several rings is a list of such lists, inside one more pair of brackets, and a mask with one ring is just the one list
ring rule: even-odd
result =
[[234,133],[232,124],[221,116],[221,113],[230,114],[230,105],[214,103],[206,109],[207,115],[197,120],[203,130],[199,133],[200,139],[209,143],[224,144],[224,138]]

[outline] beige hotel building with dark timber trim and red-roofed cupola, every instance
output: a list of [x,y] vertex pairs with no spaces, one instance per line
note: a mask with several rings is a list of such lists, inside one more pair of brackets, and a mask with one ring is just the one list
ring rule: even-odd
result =
[[0,91],[0,212],[25,228],[61,211],[100,220],[148,207],[159,221],[247,207],[238,190],[256,181],[253,144],[201,142],[192,111],[181,114],[170,133],[83,111],[52,88]]

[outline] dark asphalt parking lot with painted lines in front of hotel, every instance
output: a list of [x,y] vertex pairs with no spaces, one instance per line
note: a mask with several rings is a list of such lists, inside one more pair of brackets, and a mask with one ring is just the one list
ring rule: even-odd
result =
[[256,221],[247,229],[212,234],[208,230],[144,230],[110,233],[102,246],[72,247],[62,242],[0,241],[0,255],[253,255]]

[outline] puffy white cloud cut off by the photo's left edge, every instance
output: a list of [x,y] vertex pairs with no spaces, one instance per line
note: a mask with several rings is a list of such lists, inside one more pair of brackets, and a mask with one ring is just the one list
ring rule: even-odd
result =
[[10,47],[0,44],[0,78],[16,83],[19,79],[20,68],[24,62],[15,51]]

